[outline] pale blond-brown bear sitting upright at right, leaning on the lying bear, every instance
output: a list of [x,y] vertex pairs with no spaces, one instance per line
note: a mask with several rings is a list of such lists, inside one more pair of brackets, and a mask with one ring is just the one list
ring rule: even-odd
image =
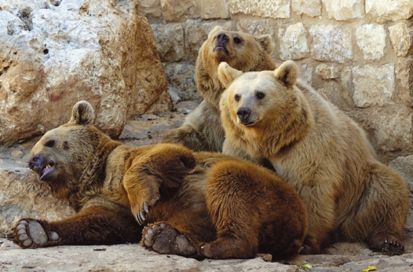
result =
[[274,71],[218,69],[224,154],[272,163],[301,195],[309,215],[302,253],[332,241],[366,241],[372,250],[402,253],[409,191],[395,170],[377,161],[364,131],[311,87],[286,61]]

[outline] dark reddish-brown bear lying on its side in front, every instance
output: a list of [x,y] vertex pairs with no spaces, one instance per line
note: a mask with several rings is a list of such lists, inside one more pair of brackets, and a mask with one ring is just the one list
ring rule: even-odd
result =
[[304,203],[272,171],[171,143],[129,147],[96,129],[94,118],[91,104],[78,102],[70,121],[33,147],[29,167],[77,214],[21,219],[11,238],[22,248],[141,240],[187,257],[260,251],[279,259],[302,247]]

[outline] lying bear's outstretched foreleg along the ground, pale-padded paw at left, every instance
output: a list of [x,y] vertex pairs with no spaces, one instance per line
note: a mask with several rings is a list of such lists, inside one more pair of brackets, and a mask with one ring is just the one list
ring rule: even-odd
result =
[[89,207],[62,221],[21,219],[10,238],[21,248],[136,242],[139,226],[128,211]]

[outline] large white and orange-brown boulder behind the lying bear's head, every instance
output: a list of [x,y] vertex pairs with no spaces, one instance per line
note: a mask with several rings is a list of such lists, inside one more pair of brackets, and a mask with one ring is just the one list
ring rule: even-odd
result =
[[[73,104],[118,136],[167,79],[135,0],[0,0],[0,144],[67,122]],[[164,104],[164,102],[160,102]]]

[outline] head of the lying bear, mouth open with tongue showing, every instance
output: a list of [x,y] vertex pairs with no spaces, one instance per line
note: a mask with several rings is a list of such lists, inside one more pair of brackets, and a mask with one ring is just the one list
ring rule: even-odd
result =
[[100,143],[111,141],[93,126],[94,120],[91,104],[77,102],[70,121],[47,131],[31,150],[29,168],[40,182],[47,182],[54,193],[64,194],[63,191],[76,186],[90,167]]

